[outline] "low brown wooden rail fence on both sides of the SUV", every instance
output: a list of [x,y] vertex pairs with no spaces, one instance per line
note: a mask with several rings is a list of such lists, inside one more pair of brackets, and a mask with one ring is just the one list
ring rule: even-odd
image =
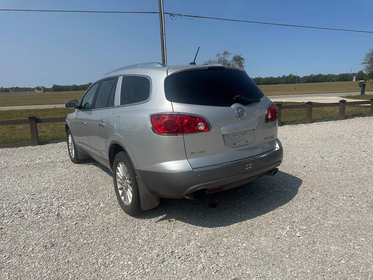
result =
[[[311,101],[305,102],[305,104],[297,104],[297,105],[281,105],[277,103],[277,118],[278,118],[278,125],[288,125],[288,124],[310,124],[311,122],[322,122],[322,121],[337,121],[339,119],[346,119],[345,110],[346,105],[367,105],[370,104],[370,113],[366,116],[373,116],[373,98],[366,101],[351,101],[346,102],[346,100],[339,100],[338,103],[313,103]],[[322,119],[319,121],[312,121],[312,108],[320,108],[320,107],[336,107],[339,106],[339,117],[336,119]],[[305,122],[288,122],[282,123],[281,122],[281,111],[285,109],[300,109],[305,108]],[[353,116],[347,117],[348,119],[357,118],[357,117],[364,117],[364,116]],[[23,147],[23,146],[37,146],[43,144],[50,144],[50,143],[59,143],[66,140],[51,140],[51,141],[39,141],[38,136],[38,126],[37,124],[41,123],[48,123],[48,122],[65,122],[66,117],[59,117],[59,118],[37,118],[34,115],[29,116],[27,119],[6,119],[0,120],[1,125],[15,125],[15,124],[30,124],[30,131],[31,131],[31,142],[27,143],[15,143],[15,144],[3,144],[0,145],[0,148],[15,148],[15,147]]]

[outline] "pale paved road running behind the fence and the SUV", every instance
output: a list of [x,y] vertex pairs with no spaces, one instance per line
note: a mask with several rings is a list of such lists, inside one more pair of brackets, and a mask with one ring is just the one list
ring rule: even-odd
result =
[[[282,95],[271,95],[269,98],[273,101],[280,102],[338,102],[341,100],[340,96],[360,94],[359,92],[337,92],[337,93],[311,93],[311,94],[282,94]],[[373,94],[373,91],[366,91],[366,94]],[[347,99],[346,99],[347,100]],[[358,101],[356,99],[348,99],[347,101]],[[25,106],[0,106],[1,110],[20,110],[20,109],[45,109],[45,108],[63,108],[65,104],[51,104],[51,105],[25,105]]]

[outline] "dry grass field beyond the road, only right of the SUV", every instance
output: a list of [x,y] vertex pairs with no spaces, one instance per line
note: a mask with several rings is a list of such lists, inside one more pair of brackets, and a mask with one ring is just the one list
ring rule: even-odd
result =
[[[259,85],[259,87],[266,95],[360,91],[358,82]],[[295,87],[297,88],[297,90],[294,90]],[[367,83],[365,90],[373,91],[373,83]]]

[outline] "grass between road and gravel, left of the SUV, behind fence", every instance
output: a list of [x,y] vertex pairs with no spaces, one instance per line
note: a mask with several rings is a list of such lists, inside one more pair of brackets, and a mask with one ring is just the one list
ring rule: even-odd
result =
[[[25,119],[29,115],[38,118],[53,118],[66,116],[73,112],[68,108],[51,109],[29,109],[29,110],[6,110],[0,111],[0,119]],[[65,139],[65,123],[54,122],[48,124],[38,124],[39,141]],[[31,142],[30,125],[1,125],[0,144]]]

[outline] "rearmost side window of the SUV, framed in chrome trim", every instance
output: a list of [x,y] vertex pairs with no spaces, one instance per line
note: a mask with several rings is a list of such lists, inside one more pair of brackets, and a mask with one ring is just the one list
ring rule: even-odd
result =
[[141,76],[123,76],[120,88],[120,105],[137,103],[149,98],[150,81]]

